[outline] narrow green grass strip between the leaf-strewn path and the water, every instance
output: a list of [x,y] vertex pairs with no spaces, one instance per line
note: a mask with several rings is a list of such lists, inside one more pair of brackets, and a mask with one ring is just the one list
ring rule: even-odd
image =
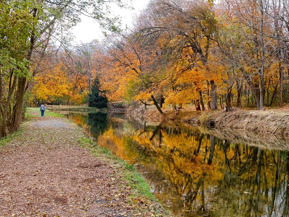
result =
[[[157,201],[149,189],[149,184],[133,165],[130,165],[119,157],[113,155],[108,148],[103,148],[101,146],[97,146],[96,143],[92,143],[92,141],[86,136],[80,138],[78,142],[82,147],[90,149],[94,155],[104,155],[107,159],[112,160],[115,164],[123,166],[125,168],[123,171],[123,179],[128,181],[128,186],[131,187],[131,189],[136,190],[136,195],[145,196],[151,201]],[[131,197],[133,196],[134,195],[131,195]]]

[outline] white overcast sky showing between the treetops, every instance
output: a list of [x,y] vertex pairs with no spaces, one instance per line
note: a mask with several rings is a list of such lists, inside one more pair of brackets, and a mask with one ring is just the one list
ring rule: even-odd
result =
[[[134,16],[140,14],[148,3],[149,0],[128,0],[128,5],[134,10],[112,7],[112,14],[122,17],[123,28],[125,25],[131,27]],[[81,16],[81,22],[71,30],[71,33],[75,36],[75,44],[89,43],[94,39],[100,41],[104,37],[98,23],[87,16]]]

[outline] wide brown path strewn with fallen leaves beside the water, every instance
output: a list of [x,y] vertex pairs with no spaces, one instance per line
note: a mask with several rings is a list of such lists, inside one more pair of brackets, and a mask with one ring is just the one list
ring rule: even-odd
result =
[[0,216],[168,216],[129,197],[123,166],[79,147],[84,133],[74,124],[37,118],[22,127],[0,152]]

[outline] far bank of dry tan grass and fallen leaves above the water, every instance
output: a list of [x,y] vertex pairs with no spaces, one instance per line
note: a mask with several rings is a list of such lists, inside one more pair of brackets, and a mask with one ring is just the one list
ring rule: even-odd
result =
[[163,111],[162,115],[157,109],[133,110],[131,114],[155,123],[175,121],[218,129],[240,129],[257,133],[289,135],[289,111],[287,109],[257,111],[236,108],[234,111],[226,112],[223,110],[192,111],[190,108],[175,111],[164,108]]

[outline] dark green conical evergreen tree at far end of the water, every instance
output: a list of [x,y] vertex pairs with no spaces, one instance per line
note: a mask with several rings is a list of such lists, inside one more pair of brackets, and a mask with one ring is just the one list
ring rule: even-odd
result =
[[[108,98],[104,95],[104,91],[99,89],[100,83],[98,78],[95,78],[91,86],[91,93],[88,94],[88,106],[97,108],[107,108]],[[102,95],[99,95],[102,93]]]

